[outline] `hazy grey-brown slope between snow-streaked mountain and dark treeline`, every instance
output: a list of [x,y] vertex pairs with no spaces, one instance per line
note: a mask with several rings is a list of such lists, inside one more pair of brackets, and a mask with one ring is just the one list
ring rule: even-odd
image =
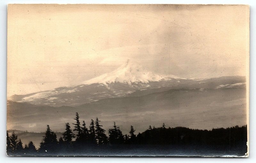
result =
[[[246,124],[246,89],[171,89],[145,96],[102,99],[81,106],[51,107],[8,102],[8,129],[40,132],[49,124],[63,131],[65,123],[75,123],[76,112],[87,127],[99,117],[104,129],[115,121],[124,133],[131,125],[140,132],[151,126],[184,126],[212,129]],[[239,95],[239,96],[237,96]]]

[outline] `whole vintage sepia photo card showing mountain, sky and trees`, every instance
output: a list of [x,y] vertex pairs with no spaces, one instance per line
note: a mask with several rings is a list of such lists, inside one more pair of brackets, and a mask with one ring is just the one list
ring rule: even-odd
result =
[[7,155],[248,157],[249,17],[9,4]]

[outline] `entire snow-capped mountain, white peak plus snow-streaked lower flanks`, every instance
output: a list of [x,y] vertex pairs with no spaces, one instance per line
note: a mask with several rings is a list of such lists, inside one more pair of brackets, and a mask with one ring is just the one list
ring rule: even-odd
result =
[[28,95],[13,95],[8,100],[55,107],[79,106],[100,99],[142,96],[170,89],[220,89],[234,87],[236,84],[245,86],[245,81],[245,77],[241,76],[183,79],[170,75],[169,78],[150,72],[136,62],[128,61],[113,72],[84,81],[77,86],[60,87]]

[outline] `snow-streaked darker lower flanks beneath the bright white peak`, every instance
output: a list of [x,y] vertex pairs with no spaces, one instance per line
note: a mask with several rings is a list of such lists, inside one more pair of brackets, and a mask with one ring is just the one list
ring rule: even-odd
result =
[[153,92],[163,92],[170,89],[222,89],[229,87],[245,87],[246,78],[229,76],[204,80],[172,79],[169,81],[152,81],[148,83],[132,83],[131,85],[115,82],[107,86],[103,84],[79,85],[75,87],[60,87],[29,95],[15,95],[8,99],[16,102],[27,102],[36,105],[49,106],[79,106],[105,98],[142,96]]

